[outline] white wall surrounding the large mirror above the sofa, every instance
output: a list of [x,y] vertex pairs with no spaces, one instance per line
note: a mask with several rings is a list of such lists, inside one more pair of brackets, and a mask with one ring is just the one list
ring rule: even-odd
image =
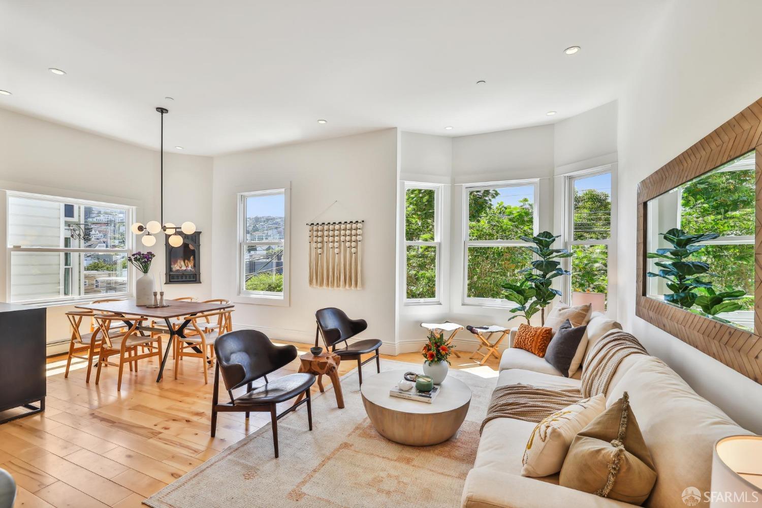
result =
[[618,128],[620,318],[648,352],[757,433],[762,385],[635,317],[635,212],[638,182],[762,95],[760,18],[762,2],[675,2],[620,98]]

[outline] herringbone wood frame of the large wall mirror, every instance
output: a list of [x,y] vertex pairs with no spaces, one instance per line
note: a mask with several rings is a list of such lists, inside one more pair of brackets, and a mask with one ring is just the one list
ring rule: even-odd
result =
[[[754,333],[738,330],[646,295],[648,200],[756,149]],[[762,384],[762,98],[638,185],[636,315]]]

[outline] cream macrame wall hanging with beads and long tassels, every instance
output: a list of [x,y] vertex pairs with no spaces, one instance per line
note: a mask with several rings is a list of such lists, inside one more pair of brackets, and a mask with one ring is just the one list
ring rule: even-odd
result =
[[311,288],[363,287],[364,222],[354,220],[307,224]]

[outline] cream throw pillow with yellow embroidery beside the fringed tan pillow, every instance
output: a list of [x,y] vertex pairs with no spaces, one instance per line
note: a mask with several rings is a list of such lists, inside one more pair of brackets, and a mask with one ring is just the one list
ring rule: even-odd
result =
[[524,451],[521,476],[542,477],[561,471],[577,432],[604,410],[606,397],[600,394],[556,411],[538,423]]

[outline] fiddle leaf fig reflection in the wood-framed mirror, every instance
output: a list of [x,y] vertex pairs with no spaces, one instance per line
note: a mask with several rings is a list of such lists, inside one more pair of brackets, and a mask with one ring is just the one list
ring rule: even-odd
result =
[[[741,289],[716,292],[712,281],[705,277],[716,277],[709,272],[709,264],[702,261],[691,261],[693,256],[705,247],[699,245],[707,240],[714,240],[718,233],[686,233],[684,230],[672,228],[667,233],[661,233],[664,240],[672,244],[671,248],[656,249],[656,252],[648,252],[648,259],[664,259],[654,264],[659,268],[658,273],[647,272],[648,277],[659,277],[667,281],[667,288],[671,293],[664,294],[664,301],[679,305],[694,313],[703,313],[716,320],[728,323],[717,317],[723,312],[734,312],[743,308],[738,301],[746,292]],[[694,305],[700,307],[700,311],[692,309]]]

